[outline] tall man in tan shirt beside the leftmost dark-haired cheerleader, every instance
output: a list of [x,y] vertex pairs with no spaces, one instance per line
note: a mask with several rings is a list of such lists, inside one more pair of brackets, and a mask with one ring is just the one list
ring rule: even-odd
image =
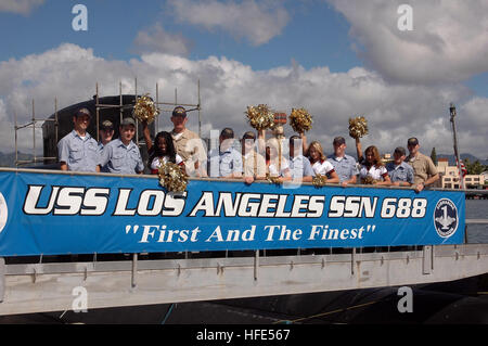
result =
[[187,111],[182,106],[176,107],[171,116],[174,125],[171,137],[175,150],[183,158],[189,176],[207,177],[205,169],[205,163],[207,162],[206,151],[198,134],[187,129]]

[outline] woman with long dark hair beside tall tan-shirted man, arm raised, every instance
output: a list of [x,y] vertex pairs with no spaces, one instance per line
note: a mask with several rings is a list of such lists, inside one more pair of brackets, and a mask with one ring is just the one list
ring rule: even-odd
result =
[[142,121],[142,132],[144,133],[144,141],[149,154],[147,165],[152,175],[157,175],[162,164],[168,162],[177,164],[183,169],[183,172],[185,171],[183,159],[176,153],[175,144],[172,143],[172,138],[169,132],[158,132],[154,138],[154,143],[151,141],[146,121]]

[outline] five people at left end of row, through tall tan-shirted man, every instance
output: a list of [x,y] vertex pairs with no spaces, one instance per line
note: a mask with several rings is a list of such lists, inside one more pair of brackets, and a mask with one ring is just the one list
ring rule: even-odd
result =
[[[187,112],[183,107],[176,107],[171,121],[175,128],[171,132],[159,132],[154,142],[151,140],[147,123],[142,123],[144,139],[149,152],[149,168],[157,174],[162,163],[172,162],[182,166],[187,172],[198,171],[198,163],[194,159],[203,145],[189,149],[188,143],[198,136],[185,128]],[[113,139],[114,124],[105,120],[100,126],[100,141],[97,142],[87,131],[91,121],[90,111],[78,110],[73,116],[74,129],[57,143],[57,153],[62,170],[86,172],[111,172],[133,175],[144,172],[144,163],[139,146],[133,142],[136,136],[136,120],[126,117],[120,123],[119,138]],[[197,141],[192,141],[197,143]],[[193,169],[189,169],[193,162]],[[203,176],[203,175],[201,175]]]

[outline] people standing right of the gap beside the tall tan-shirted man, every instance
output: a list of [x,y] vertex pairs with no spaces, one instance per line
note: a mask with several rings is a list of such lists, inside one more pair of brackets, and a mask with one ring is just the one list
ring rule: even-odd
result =
[[[233,130],[221,131],[219,150],[210,152],[209,175],[215,178],[241,178],[246,183],[274,177],[275,182],[299,181],[311,182],[316,176],[325,176],[328,183],[342,187],[357,183],[376,185],[413,187],[422,191],[426,185],[439,179],[436,166],[431,157],[420,153],[416,138],[407,141],[406,149],[398,146],[394,151],[394,159],[383,163],[376,146],[367,148],[364,154],[359,139],[356,139],[358,162],[346,154],[346,140],[336,137],[333,141],[334,153],[328,158],[319,141],[307,144],[305,133],[292,136],[288,140],[290,159],[283,155],[284,138],[265,139],[266,131],[247,131],[241,139],[239,153],[233,149]],[[368,181],[368,182],[365,182]]]

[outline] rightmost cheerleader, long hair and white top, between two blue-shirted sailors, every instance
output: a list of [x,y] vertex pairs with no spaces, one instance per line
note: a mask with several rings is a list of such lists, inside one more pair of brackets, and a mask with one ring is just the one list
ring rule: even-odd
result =
[[361,169],[359,170],[359,178],[361,183],[390,185],[388,171],[383,164],[377,148],[374,145],[368,146],[364,151],[364,159],[362,161]]

